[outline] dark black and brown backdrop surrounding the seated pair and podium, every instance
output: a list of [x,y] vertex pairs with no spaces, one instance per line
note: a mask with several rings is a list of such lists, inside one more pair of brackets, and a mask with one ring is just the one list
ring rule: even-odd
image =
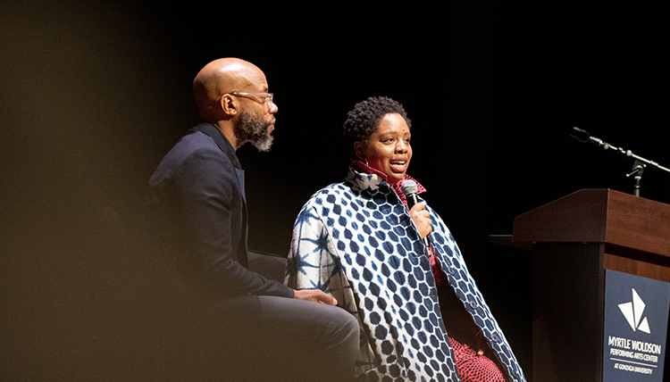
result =
[[[344,176],[346,112],[389,95],[413,120],[410,174],[529,378],[531,255],[487,236],[582,188],[632,192],[632,161],[577,142],[573,126],[670,166],[660,2],[5,3],[2,380],[169,375],[154,264],[128,237],[147,179],[196,122],[191,81],[215,58],[255,62],[280,109],[272,151],[239,150],[250,247],[288,252],[302,204]],[[642,196],[670,203],[670,174],[648,170]]]

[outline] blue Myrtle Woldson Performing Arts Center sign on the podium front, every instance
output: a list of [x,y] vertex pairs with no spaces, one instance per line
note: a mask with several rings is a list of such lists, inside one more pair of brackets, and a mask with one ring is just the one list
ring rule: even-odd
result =
[[603,381],[663,382],[670,283],[605,274]]

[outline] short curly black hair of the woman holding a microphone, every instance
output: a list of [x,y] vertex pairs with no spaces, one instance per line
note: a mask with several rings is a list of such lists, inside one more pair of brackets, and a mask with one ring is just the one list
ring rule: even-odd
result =
[[344,141],[351,158],[356,158],[354,151],[355,142],[364,142],[373,135],[379,127],[379,121],[386,114],[398,113],[406,121],[407,127],[412,128],[412,122],[407,118],[407,113],[402,104],[386,96],[371,96],[354,106],[354,109],[347,113],[347,120],[344,122]]

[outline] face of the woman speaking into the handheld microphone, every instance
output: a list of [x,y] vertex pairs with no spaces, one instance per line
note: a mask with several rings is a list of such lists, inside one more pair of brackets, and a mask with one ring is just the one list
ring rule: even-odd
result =
[[411,137],[405,119],[394,112],[384,115],[377,130],[366,141],[356,142],[354,148],[361,161],[386,174],[393,186],[405,177],[412,159]]

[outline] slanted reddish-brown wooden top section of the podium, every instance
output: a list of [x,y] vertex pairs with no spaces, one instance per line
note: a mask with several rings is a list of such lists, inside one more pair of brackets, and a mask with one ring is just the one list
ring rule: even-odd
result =
[[516,217],[515,242],[606,243],[670,257],[670,205],[582,189]]

